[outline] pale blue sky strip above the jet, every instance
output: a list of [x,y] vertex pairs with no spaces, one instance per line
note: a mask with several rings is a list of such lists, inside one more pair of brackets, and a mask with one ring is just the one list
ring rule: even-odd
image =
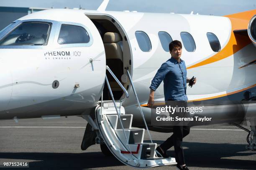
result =
[[[0,0],[5,7],[82,8],[96,10],[103,0]],[[223,16],[256,9],[256,0],[110,0],[106,10]]]

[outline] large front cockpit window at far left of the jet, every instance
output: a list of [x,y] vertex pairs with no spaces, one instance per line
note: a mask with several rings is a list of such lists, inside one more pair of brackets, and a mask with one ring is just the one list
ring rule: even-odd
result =
[[0,46],[47,44],[51,23],[26,22],[19,25],[0,41]]

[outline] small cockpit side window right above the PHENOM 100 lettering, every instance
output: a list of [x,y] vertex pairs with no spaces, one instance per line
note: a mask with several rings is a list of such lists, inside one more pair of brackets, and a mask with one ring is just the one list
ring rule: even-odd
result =
[[90,37],[83,27],[67,24],[61,25],[58,38],[59,44],[88,43],[89,41]]

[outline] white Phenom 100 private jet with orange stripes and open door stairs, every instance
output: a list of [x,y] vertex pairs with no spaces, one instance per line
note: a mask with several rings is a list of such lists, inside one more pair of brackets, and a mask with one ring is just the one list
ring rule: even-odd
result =
[[[88,122],[82,150],[97,143],[131,167],[176,165],[156,154],[149,130],[172,127],[152,125],[147,102],[169,43],[179,40],[187,77],[197,77],[188,103],[204,104],[202,117],[246,130],[246,147],[256,150],[256,10],[213,16],[107,5],[42,10],[0,31],[0,119],[80,116]],[[164,101],[163,84],[155,100]]]

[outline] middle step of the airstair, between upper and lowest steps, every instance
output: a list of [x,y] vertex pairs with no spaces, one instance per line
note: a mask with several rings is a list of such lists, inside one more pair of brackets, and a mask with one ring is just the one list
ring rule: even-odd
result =
[[[124,129],[128,144],[143,143],[145,129]],[[126,139],[123,133],[123,129],[116,129],[116,135],[123,144],[126,144]]]

